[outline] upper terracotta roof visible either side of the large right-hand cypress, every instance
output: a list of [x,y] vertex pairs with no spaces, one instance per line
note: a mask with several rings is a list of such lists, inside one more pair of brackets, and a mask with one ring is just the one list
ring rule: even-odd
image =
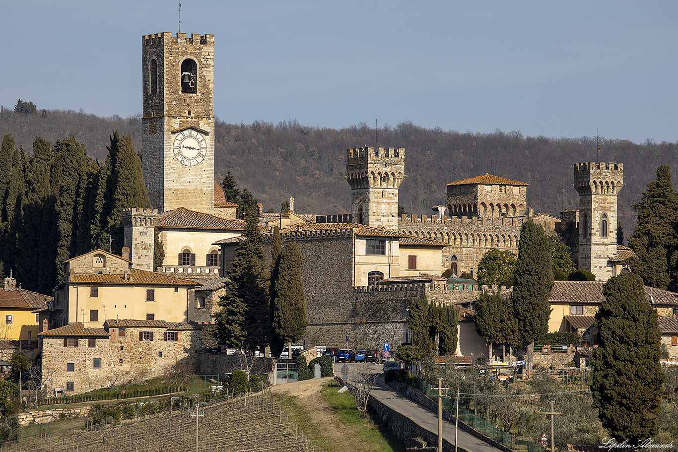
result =
[[[595,303],[605,300],[603,297],[603,281],[554,281],[551,289],[550,303]],[[678,293],[654,287],[643,286],[645,298],[653,306],[678,306]]]

